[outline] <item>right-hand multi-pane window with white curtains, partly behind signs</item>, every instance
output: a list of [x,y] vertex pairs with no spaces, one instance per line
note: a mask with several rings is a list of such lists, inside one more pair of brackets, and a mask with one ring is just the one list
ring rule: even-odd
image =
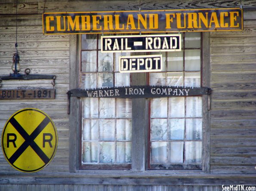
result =
[[[200,33],[184,33],[182,51],[163,54],[163,72],[150,73],[149,84],[201,86]],[[200,169],[202,96],[151,98],[150,168]]]

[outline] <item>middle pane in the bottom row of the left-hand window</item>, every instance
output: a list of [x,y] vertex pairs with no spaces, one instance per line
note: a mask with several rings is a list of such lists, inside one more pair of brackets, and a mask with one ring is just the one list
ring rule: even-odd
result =
[[115,162],[115,143],[114,142],[99,143],[99,162],[101,163]]

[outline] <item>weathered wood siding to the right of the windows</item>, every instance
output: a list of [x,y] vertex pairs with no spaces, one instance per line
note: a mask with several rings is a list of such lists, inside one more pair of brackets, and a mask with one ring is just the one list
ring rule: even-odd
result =
[[241,32],[210,33],[211,173],[256,173],[256,12]]

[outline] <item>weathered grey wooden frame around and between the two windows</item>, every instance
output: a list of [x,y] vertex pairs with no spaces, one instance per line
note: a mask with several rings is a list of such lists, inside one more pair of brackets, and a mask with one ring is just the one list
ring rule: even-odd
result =
[[[201,33],[201,81],[204,87],[210,87],[210,33]],[[80,35],[70,36],[70,89],[78,88],[80,83]],[[146,85],[148,76],[145,73],[131,74],[131,85]],[[210,95],[203,97],[203,135],[202,135],[202,168],[200,170],[187,170],[189,173],[210,172]],[[148,125],[149,125],[149,98],[132,99],[132,164],[131,170],[137,172],[155,171],[148,169]],[[138,110],[140,108],[140,110]],[[83,172],[80,168],[80,131],[81,131],[81,99],[71,97],[69,115],[69,170],[70,172]],[[96,164],[97,166],[101,164]],[[119,165],[118,165],[119,166]],[[114,169],[119,167],[112,165]],[[86,168],[92,170],[92,168]],[[109,167],[97,168],[109,169]],[[123,168],[122,168],[123,169]],[[93,168],[95,170],[95,168]],[[104,170],[104,172],[105,172]],[[184,170],[157,170],[157,172],[184,173]],[[103,173],[103,171],[102,171]],[[127,171],[129,173],[129,170]]]

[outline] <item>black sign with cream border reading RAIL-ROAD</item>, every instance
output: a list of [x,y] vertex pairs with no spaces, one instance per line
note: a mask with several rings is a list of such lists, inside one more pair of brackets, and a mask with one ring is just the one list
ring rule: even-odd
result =
[[102,52],[181,51],[181,35],[101,36]]

